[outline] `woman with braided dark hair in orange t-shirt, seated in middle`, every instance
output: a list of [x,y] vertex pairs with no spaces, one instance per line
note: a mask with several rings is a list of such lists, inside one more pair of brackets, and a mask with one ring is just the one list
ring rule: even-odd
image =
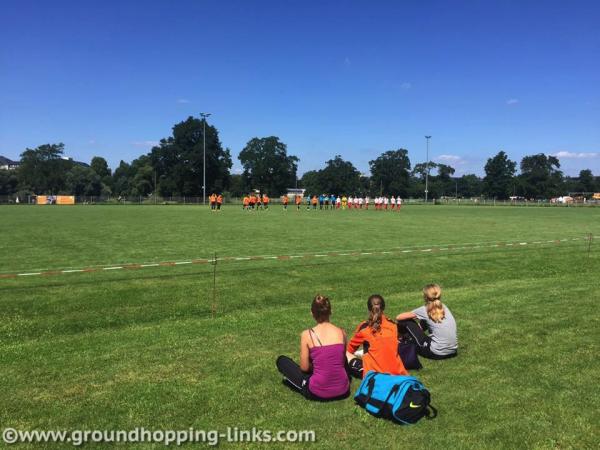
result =
[[[408,375],[398,355],[398,327],[383,314],[383,297],[371,295],[367,308],[369,318],[356,328],[346,348],[351,374],[360,378],[369,370],[374,370],[392,375]],[[361,345],[362,362],[354,355]]]

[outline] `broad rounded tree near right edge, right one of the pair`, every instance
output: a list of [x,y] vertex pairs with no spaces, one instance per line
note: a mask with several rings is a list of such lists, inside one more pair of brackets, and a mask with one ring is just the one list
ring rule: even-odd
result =
[[550,198],[562,194],[563,175],[555,156],[543,153],[525,156],[521,160],[521,180],[525,197]]

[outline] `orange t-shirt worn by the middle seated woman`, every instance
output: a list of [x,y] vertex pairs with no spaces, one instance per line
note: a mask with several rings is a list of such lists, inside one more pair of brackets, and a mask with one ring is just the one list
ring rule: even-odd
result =
[[348,342],[347,350],[354,353],[360,346],[364,348],[363,375],[369,370],[392,375],[408,375],[398,355],[398,328],[385,315],[381,317],[381,328],[377,333],[362,322]]

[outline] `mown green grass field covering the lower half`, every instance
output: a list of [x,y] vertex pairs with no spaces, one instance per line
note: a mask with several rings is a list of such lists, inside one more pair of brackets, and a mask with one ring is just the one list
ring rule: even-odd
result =
[[[588,233],[600,235],[599,208],[0,207],[0,425],[310,429],[323,448],[597,448],[600,239],[588,252]],[[215,253],[228,259],[214,317],[210,263],[103,270]],[[302,257],[245,259],[261,255]],[[55,273],[69,268],[100,270]],[[37,272],[49,273],[9,276]],[[275,358],[297,358],[315,293],[351,332],[368,295],[395,315],[429,282],[444,288],[460,345],[415,372],[435,420],[400,427],[352,399],[313,403],[282,386]]]

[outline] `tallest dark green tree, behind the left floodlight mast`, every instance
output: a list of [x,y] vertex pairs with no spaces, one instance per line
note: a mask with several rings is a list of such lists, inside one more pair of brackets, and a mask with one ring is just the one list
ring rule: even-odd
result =
[[173,135],[162,139],[150,152],[150,164],[163,195],[201,195],[206,126],[206,192],[222,192],[229,186],[231,153],[223,149],[215,127],[188,117],[173,127]]

